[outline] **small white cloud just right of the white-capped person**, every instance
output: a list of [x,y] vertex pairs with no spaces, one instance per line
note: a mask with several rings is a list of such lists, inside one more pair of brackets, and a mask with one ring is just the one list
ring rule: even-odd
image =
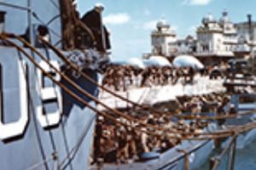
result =
[[122,25],[127,23],[131,19],[129,14],[120,13],[120,14],[108,14],[106,17],[103,17],[103,22],[110,25]]

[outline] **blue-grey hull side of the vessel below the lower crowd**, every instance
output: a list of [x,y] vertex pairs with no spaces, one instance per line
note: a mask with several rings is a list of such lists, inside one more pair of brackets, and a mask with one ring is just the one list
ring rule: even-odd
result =
[[[160,154],[159,158],[151,161],[142,161],[126,164],[104,164],[101,168],[104,170],[123,169],[123,170],[183,170],[185,169],[185,154],[180,150],[184,150],[189,154],[189,169],[198,169],[204,164],[212,154],[214,144],[212,140],[185,140],[170,150],[166,150]],[[91,167],[91,170],[98,167]]]

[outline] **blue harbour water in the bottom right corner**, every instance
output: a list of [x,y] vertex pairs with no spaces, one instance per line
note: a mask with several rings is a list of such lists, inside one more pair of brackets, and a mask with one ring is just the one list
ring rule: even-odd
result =
[[[216,154],[216,153],[214,153]],[[225,155],[220,163],[218,170],[226,170],[228,168],[228,156]],[[206,162],[200,170],[207,170],[209,162]],[[256,140],[248,144],[244,149],[236,150],[235,170],[255,170],[256,169]]]

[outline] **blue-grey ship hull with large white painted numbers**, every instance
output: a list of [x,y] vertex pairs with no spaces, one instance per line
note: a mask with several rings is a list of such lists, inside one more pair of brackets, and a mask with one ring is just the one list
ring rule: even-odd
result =
[[[0,169],[54,169],[57,164],[61,169],[88,167],[96,114],[53,85],[15,48],[0,51]],[[41,52],[47,56],[44,50]],[[49,60],[57,60],[50,51]],[[96,71],[85,73],[97,81]],[[81,78],[73,79],[96,96],[96,86]],[[47,93],[47,88],[52,88],[54,94]]]

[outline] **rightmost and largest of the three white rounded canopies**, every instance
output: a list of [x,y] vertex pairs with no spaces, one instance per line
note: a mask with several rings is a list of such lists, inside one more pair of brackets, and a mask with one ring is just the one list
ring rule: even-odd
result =
[[201,63],[201,61],[191,55],[177,56],[175,59],[173,59],[172,65],[177,68],[180,68],[180,67],[192,67],[194,69],[204,68],[204,65]]

